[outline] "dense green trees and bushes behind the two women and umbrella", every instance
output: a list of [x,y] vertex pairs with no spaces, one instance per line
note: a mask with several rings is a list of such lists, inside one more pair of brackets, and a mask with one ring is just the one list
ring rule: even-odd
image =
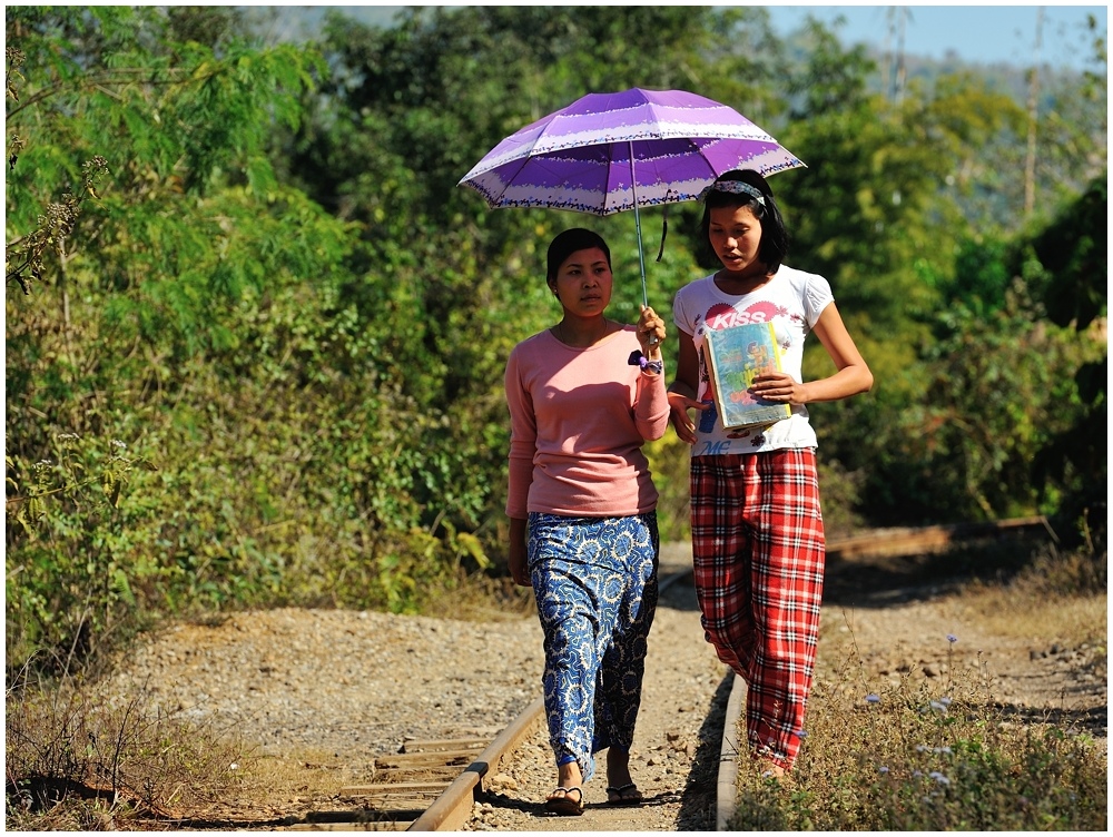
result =
[[[628,322],[639,245],[659,312],[705,269],[695,205],[654,260],[661,211],[639,242],[629,214],[492,211],[456,187],[595,90],[700,92],[808,164],[772,179],[788,260],[830,279],[878,382],[811,411],[831,520],[1077,516],[1104,486],[1080,444],[1105,416],[1105,137],[1076,118],[1097,75],[1046,88],[1058,185],[1025,218],[1012,98],[956,72],[890,101],[865,51],[818,23],[789,45],[757,7],[333,13],[303,46],[264,45],[237,8],[6,22],[10,660],[141,613],[406,611],[503,573],[502,373],[559,316],[548,242],[603,234]],[[806,374],[826,364],[809,351]],[[649,450],[662,532],[686,536],[688,451]]]

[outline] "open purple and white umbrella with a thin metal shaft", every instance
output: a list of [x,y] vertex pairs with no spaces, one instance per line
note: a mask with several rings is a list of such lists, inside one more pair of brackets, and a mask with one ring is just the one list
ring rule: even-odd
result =
[[[731,169],[804,166],[738,111],[684,90],[588,93],[506,137],[457,184],[491,208],[634,210],[642,296],[643,206],[696,200]],[[648,298],[646,298],[648,305]]]

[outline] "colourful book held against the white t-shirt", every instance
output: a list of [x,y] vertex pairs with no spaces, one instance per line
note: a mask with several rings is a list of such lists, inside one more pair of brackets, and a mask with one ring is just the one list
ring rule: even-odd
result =
[[749,392],[755,377],[781,368],[772,323],[708,331],[703,339],[715,406],[723,427],[774,424],[792,414],[791,405],[766,401]]

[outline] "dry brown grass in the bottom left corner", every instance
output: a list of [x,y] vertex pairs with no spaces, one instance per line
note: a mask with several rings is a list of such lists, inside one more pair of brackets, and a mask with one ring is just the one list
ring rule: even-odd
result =
[[9,691],[8,830],[280,826],[370,778],[333,754],[258,755],[155,706],[144,689],[111,701],[73,681]]

